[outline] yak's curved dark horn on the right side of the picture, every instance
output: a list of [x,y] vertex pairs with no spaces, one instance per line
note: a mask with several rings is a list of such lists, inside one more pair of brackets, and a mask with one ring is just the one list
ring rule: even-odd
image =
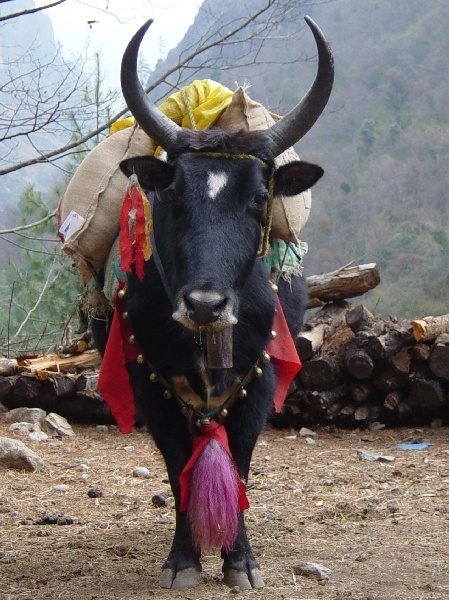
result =
[[305,21],[318,48],[318,71],[301,102],[266,132],[271,139],[274,156],[279,156],[305,136],[323,112],[332,91],[334,58],[331,49],[318,25],[310,17],[305,17]]

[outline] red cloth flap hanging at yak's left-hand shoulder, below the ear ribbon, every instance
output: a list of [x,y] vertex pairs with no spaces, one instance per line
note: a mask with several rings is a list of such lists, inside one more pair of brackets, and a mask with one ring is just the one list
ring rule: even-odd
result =
[[[125,287],[121,283],[119,290]],[[122,433],[131,433],[134,425],[134,393],[126,370],[126,363],[136,360],[140,348],[129,342],[131,331],[123,318],[126,300],[115,298],[116,309],[109,339],[101,364],[98,389],[111,409]]]

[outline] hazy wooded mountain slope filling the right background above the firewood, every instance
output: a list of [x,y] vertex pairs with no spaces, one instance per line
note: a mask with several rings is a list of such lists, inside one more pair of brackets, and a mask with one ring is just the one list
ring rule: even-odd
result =
[[[204,36],[221,5],[204,2],[157,72]],[[226,4],[234,19],[242,10],[237,2]],[[285,113],[314,75],[313,64],[298,60],[314,53],[309,32],[297,34],[303,14],[319,23],[336,62],[328,108],[297,148],[326,171],[302,232],[310,248],[306,272],[376,261],[383,281],[368,298],[371,308],[403,317],[447,312],[449,88],[442,74],[449,6],[445,0],[335,0],[299,7],[276,24],[261,51],[252,41],[243,52],[230,46],[202,55],[206,68],[194,77],[231,88],[249,82],[254,99]]]

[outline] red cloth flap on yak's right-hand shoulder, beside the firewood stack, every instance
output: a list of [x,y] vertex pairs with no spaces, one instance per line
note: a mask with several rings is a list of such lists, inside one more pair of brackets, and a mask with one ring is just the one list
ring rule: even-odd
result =
[[273,329],[276,337],[267,346],[267,352],[271,356],[276,374],[276,386],[274,390],[274,408],[281,412],[288,388],[296,375],[301,370],[302,364],[296,351],[295,343],[285,320],[281,303],[277,303],[277,315],[274,319]]

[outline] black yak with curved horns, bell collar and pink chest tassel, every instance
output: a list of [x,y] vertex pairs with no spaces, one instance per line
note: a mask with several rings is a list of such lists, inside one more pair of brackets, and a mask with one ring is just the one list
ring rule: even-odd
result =
[[[276,331],[276,323],[284,311],[294,332],[306,294],[301,277],[279,287],[271,283],[260,260],[261,239],[273,197],[299,194],[323,175],[304,161],[276,168],[274,159],[312,127],[333,83],[329,45],[306,21],[318,48],[315,81],[287,116],[264,131],[189,130],[162,114],[137,76],[138,50],[151,20],[123,56],[129,110],[166,152],[165,160],[140,156],[121,163],[150,199],[152,254],[142,273],[134,268],[122,283],[114,314],[125,351],[132,346],[126,375],[136,413],[163,455],[175,500],[163,588],[197,585],[201,551],[212,547],[221,548],[226,585],[264,585],[244,524],[245,484],[279,384],[270,344],[276,334],[289,333],[282,324]],[[106,341],[97,324],[94,336],[112,361],[109,369],[103,363],[101,381],[120,395],[113,329],[114,321]]]

